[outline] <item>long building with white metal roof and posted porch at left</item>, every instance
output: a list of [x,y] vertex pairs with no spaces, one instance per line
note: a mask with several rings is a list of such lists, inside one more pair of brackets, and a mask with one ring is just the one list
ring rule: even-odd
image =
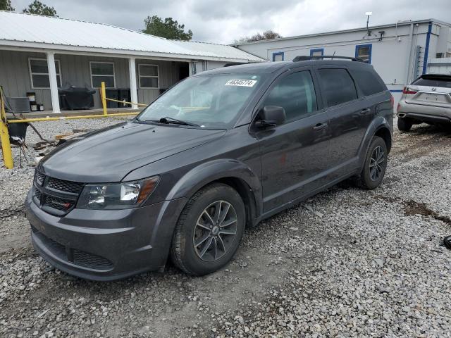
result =
[[[35,94],[60,111],[58,89],[70,84],[130,93],[147,104],[178,80],[226,63],[264,61],[222,44],[163,39],[102,23],[0,11],[0,85],[6,96]],[[133,107],[136,108],[136,107]]]

